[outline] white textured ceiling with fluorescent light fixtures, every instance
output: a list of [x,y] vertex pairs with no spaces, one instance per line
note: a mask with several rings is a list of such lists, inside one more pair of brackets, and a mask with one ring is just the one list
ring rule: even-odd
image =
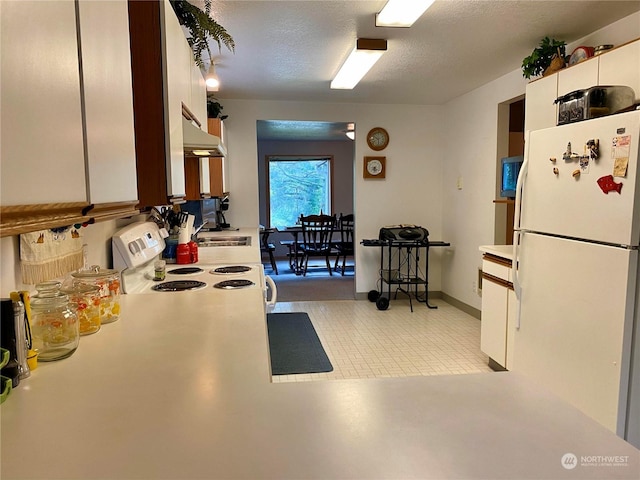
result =
[[[236,43],[235,54],[212,47],[216,96],[443,104],[518,69],[544,36],[571,43],[640,10],[640,1],[436,0],[410,28],[375,27],[385,3],[212,0]],[[385,38],[388,50],[353,90],[331,90],[358,37]]]

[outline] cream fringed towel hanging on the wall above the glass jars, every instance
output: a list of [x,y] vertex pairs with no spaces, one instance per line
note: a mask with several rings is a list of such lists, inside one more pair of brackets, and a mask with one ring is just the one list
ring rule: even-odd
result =
[[82,236],[76,228],[20,235],[22,282],[33,285],[82,268]]

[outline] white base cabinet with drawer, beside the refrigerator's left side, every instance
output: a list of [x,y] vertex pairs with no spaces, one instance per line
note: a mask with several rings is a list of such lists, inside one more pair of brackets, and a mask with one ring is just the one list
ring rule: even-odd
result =
[[485,253],[482,260],[482,314],[480,350],[495,370],[508,369],[513,355],[516,297],[511,283],[511,261]]

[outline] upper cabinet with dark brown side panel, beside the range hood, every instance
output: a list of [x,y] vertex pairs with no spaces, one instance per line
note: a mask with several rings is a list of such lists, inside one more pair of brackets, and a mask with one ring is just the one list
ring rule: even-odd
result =
[[129,0],[129,23],[140,206],[180,202],[193,53],[168,0]]

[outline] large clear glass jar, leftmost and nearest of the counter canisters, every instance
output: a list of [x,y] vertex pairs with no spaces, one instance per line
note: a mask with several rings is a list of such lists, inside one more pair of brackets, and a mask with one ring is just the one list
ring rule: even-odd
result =
[[55,281],[39,283],[38,294],[31,298],[31,339],[38,361],[67,358],[80,342],[78,316],[60,287]]

